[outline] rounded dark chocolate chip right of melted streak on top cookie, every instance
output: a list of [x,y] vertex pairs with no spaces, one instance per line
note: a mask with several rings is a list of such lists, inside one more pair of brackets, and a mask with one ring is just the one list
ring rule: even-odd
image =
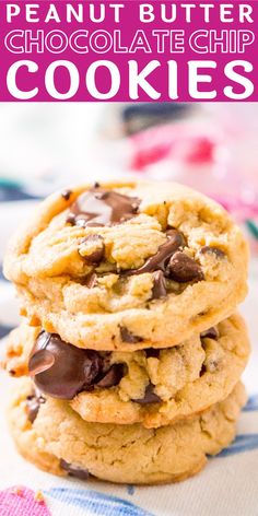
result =
[[187,283],[189,281],[201,281],[204,274],[199,263],[185,253],[177,251],[169,260],[169,278],[178,283]]

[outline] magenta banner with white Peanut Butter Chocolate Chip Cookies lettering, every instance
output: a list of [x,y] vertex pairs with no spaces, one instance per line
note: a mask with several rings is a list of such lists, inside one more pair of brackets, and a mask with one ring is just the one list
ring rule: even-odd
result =
[[0,0],[0,101],[258,101],[258,2]]

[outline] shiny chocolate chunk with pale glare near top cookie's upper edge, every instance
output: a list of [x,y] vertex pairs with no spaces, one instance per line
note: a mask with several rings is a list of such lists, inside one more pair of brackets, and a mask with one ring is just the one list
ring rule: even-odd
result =
[[137,197],[103,190],[97,186],[78,197],[70,207],[67,222],[82,227],[117,224],[134,216],[140,202]]

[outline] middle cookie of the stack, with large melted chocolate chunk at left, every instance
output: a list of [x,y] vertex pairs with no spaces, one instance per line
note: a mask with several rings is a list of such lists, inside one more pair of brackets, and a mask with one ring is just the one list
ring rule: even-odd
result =
[[87,422],[159,427],[226,398],[248,355],[237,314],[180,345],[133,353],[78,349],[24,324],[9,337],[5,368],[30,373],[43,394],[68,399]]

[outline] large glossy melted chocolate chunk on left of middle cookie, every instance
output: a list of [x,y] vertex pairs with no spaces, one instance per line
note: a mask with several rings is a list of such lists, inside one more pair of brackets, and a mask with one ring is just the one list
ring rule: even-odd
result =
[[90,387],[102,370],[103,359],[96,351],[77,348],[46,331],[39,333],[28,361],[38,389],[61,399],[72,399]]

